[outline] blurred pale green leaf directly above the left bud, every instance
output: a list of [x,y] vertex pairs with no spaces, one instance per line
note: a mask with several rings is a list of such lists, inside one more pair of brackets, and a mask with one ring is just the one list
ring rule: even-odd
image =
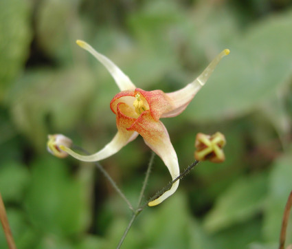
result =
[[92,74],[84,68],[27,72],[10,91],[12,118],[43,151],[49,127],[62,132],[80,122],[92,89]]

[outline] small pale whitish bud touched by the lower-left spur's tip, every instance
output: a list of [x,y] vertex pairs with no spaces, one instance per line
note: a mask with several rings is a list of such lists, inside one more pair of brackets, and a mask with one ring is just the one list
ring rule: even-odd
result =
[[70,138],[62,134],[48,135],[47,138],[47,151],[52,153],[57,158],[66,158],[68,153],[60,149],[60,146],[71,147],[72,141]]

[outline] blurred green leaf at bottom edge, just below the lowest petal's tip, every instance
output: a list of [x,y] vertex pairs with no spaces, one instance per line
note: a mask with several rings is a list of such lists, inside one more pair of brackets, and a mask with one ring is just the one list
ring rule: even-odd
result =
[[212,248],[212,240],[190,219],[187,199],[179,191],[142,215],[139,224],[146,248]]

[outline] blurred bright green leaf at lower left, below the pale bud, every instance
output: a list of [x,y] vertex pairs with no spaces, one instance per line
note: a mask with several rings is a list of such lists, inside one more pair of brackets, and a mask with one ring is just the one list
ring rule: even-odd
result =
[[83,186],[69,177],[59,159],[47,157],[32,164],[25,204],[33,224],[42,232],[75,235],[87,226],[89,207]]

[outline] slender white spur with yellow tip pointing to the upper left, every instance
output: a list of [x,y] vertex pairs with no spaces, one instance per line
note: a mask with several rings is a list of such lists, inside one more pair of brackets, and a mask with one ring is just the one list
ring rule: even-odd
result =
[[76,43],[91,53],[94,57],[96,57],[98,61],[100,61],[104,67],[109,70],[111,76],[113,76],[115,79],[115,83],[117,83],[117,87],[119,87],[121,91],[135,89],[135,85],[131,82],[130,78],[128,78],[128,76],[126,76],[126,74],[124,74],[122,70],[117,67],[117,65],[115,65],[115,63],[113,63],[109,58],[98,53],[85,41],[77,40]]

